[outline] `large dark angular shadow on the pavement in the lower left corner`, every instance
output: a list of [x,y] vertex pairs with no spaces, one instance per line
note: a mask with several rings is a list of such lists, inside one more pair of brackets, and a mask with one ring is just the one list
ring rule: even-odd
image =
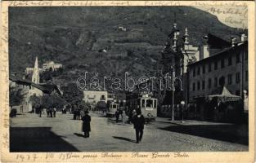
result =
[[10,152],[79,152],[51,127],[11,127]]

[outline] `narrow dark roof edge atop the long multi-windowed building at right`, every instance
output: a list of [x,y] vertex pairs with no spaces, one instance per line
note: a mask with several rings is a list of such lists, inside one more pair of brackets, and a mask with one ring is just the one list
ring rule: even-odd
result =
[[218,52],[217,54],[211,55],[211,56],[209,56],[209,57],[207,57],[207,58],[205,58],[205,59],[200,59],[199,61],[196,61],[196,62],[193,62],[193,63],[191,63],[191,64],[188,64],[187,66],[191,66],[191,65],[195,65],[195,64],[200,64],[200,63],[202,63],[202,62],[204,62],[204,61],[207,61],[207,60],[209,60],[209,59],[218,58],[218,56],[220,56],[220,55],[223,55],[223,54],[228,53],[228,52],[231,52],[231,51],[236,51],[237,49],[240,49],[240,48],[242,48],[242,47],[244,47],[244,46],[248,46],[248,41],[246,41],[246,42],[240,42],[240,43],[238,43],[237,46],[230,46],[230,47],[227,47],[227,48],[225,48],[224,50]]

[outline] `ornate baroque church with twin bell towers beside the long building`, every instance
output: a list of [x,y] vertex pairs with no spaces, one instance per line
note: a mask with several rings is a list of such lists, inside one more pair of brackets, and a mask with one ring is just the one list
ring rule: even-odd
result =
[[[184,29],[184,35],[181,36],[177,29],[177,24],[174,22],[172,32],[168,35],[167,42],[162,51],[161,73],[173,74],[176,77],[182,78],[182,83],[175,83],[174,104],[179,104],[182,100],[187,101],[186,86],[187,83],[187,64],[200,59],[200,47],[193,46],[189,42],[189,30]],[[166,90],[163,104],[173,104],[170,100],[173,99],[171,91]]]

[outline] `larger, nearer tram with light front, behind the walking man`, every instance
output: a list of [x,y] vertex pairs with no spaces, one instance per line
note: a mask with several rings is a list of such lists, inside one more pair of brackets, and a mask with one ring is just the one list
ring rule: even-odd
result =
[[128,115],[132,115],[133,110],[141,109],[141,113],[147,121],[155,120],[157,117],[158,100],[153,98],[150,92],[140,92],[138,94],[128,93],[126,95]]

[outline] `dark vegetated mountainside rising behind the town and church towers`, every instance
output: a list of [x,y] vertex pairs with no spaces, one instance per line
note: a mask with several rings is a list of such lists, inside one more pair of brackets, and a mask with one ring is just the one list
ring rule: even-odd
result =
[[9,7],[10,72],[53,60],[64,65],[53,81],[67,85],[85,72],[124,78],[155,75],[168,34],[187,27],[200,45],[207,33],[230,40],[239,31],[193,7]]

